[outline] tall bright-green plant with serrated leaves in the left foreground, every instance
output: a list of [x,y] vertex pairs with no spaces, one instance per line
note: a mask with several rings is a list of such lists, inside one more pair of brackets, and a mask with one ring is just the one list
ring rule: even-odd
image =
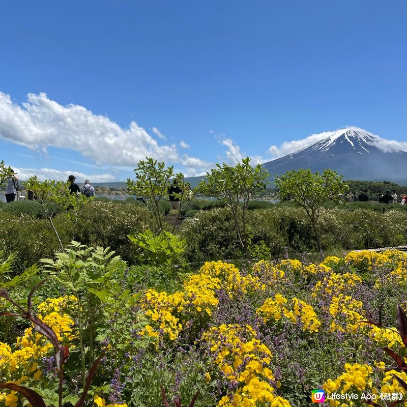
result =
[[[88,367],[92,365],[96,338],[104,331],[106,319],[109,319],[109,315],[105,318],[102,304],[110,304],[106,309],[109,314],[112,306],[114,310],[114,303],[118,301],[118,296],[123,290],[120,278],[123,276],[126,264],[119,256],[113,255],[114,252],[109,248],[88,247],[72,242],[64,252],[55,254],[55,260],[49,258],[41,260],[44,265],[47,265],[51,277],[76,298],[74,305],[83,386],[86,380],[86,365]],[[123,294],[128,300],[129,295],[127,290]],[[113,336],[119,332],[118,328]],[[85,346],[84,338],[89,341],[88,346]],[[117,356],[119,341],[115,337],[113,344],[114,354]],[[117,363],[117,358],[115,359]]]

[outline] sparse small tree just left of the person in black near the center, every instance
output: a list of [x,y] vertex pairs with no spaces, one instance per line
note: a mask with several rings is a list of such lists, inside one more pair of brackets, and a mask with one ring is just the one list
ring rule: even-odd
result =
[[157,162],[151,157],[140,160],[134,169],[136,180],[127,179],[129,192],[141,199],[143,205],[153,214],[158,229],[163,231],[159,202],[167,195],[169,179],[173,174],[173,165],[165,168],[165,162]]

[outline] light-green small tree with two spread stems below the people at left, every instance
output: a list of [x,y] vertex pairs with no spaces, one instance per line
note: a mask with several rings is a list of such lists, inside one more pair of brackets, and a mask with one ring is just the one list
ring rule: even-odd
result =
[[27,182],[24,182],[23,185],[28,191],[33,191],[63,251],[64,245],[52,221],[54,215],[54,206],[52,203],[61,205],[65,209],[68,219],[72,222],[73,231],[71,240],[74,240],[79,214],[93,197],[88,198],[82,194],[73,195],[69,191],[68,183],[64,183],[63,181],[56,182],[55,180],[40,182],[36,176],[31,177]]

